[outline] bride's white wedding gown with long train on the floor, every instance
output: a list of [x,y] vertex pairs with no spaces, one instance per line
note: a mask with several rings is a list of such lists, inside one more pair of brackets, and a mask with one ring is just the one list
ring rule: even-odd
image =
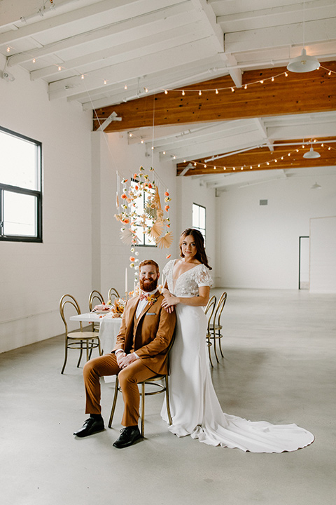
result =
[[[203,264],[186,271],[173,281],[175,261],[167,263],[169,291],[179,297],[198,295],[198,288],[211,285],[209,269]],[[273,425],[251,422],[225,414],[212,384],[206,332],[207,316],[202,307],[177,304],[176,337],[170,354],[169,400],[172,426],[177,436],[190,435],[200,442],[222,447],[238,447],[250,452],[283,452],[306,447],[314,436],[296,424]],[[165,402],[161,412],[168,422]]]

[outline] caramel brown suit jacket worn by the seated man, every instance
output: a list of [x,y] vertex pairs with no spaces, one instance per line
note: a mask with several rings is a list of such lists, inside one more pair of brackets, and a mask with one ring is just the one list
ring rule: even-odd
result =
[[160,292],[155,294],[156,302],[146,304],[138,319],[135,318],[139,296],[127,300],[120,332],[112,352],[123,349],[132,351],[144,365],[155,374],[167,373],[167,348],[174,335],[176,314],[169,314],[161,307],[164,299]]

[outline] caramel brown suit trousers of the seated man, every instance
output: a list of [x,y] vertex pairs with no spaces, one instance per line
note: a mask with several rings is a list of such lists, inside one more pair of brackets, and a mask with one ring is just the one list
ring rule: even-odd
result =
[[116,354],[104,354],[85,363],[83,369],[86,414],[101,414],[100,406],[100,377],[118,374],[119,384],[123,393],[124,413],[121,424],[135,426],[139,421],[140,393],[138,382],[154,377],[155,372],[149,370],[141,359],[133,361],[126,368],[120,370]]

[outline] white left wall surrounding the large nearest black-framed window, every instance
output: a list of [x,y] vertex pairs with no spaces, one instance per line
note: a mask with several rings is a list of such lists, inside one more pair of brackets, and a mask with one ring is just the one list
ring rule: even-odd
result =
[[0,243],[0,352],[64,332],[60,297],[86,308],[91,290],[92,114],[13,73],[0,79],[0,124],[42,142],[43,243]]

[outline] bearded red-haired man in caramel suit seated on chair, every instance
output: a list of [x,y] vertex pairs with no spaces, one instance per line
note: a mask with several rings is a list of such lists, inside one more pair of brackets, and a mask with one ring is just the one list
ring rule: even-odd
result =
[[94,358],[84,366],[86,410],[90,417],[73,433],[85,437],[104,430],[100,406],[100,382],[103,375],[118,374],[123,392],[125,426],[113,443],[121,449],[141,438],[138,427],[140,395],[138,382],[167,373],[167,348],[172,339],[176,315],[161,307],[158,291],[158,264],[145,260],[139,264],[141,294],[127,300],[116,346],[110,354]]

